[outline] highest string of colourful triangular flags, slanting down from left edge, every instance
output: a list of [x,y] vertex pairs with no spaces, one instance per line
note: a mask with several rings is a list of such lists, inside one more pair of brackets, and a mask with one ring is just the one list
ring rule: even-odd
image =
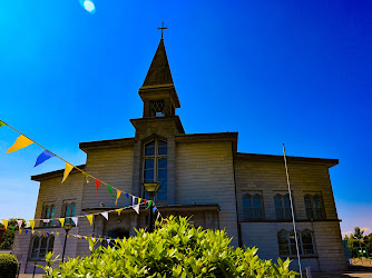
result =
[[[17,151],[17,150],[20,150],[22,148],[26,148],[28,146],[30,146],[31,143],[36,143],[37,146],[39,146],[40,148],[45,149],[45,151],[39,155],[39,157],[37,158],[37,161],[35,163],[33,167],[37,167],[38,165],[45,162],[46,160],[48,160],[49,158],[52,158],[52,157],[57,157],[59,158],[60,160],[65,161],[66,162],[66,168],[65,168],[65,172],[63,172],[63,178],[62,178],[62,183],[63,181],[68,178],[69,173],[72,171],[72,169],[77,169],[78,171],[80,171],[82,175],[85,175],[86,177],[86,181],[87,183],[89,183],[89,179],[88,178],[92,178],[96,180],[96,191],[98,191],[98,188],[101,183],[106,185],[108,190],[110,191],[111,196],[114,198],[116,198],[116,205],[118,202],[118,199],[120,197],[120,193],[124,192],[121,190],[119,190],[118,188],[116,187],[112,187],[110,185],[108,185],[107,182],[102,181],[102,180],[99,180],[97,179],[96,177],[94,177],[92,175],[84,171],[82,169],[69,163],[68,161],[66,161],[63,158],[57,156],[56,153],[51,152],[50,150],[48,150],[47,148],[45,148],[43,146],[41,146],[40,143],[36,142],[36,141],[32,141],[30,138],[26,137],[22,132],[20,132],[19,130],[17,130],[16,128],[13,128],[12,126],[6,123],[4,121],[0,120],[0,127],[2,126],[8,126],[9,128],[11,128],[12,130],[14,130],[16,132],[20,133],[20,136],[17,138],[16,142],[8,149],[7,153],[10,153],[10,152],[13,152],[13,151]],[[98,185],[99,182],[99,185]],[[112,188],[117,190],[117,196],[114,196],[112,195]],[[97,193],[97,192],[96,192]],[[136,197],[136,198],[139,198],[137,196],[134,196],[131,193],[128,193],[128,192],[124,192],[125,197],[129,198],[129,196],[133,196],[133,197]],[[140,200],[140,198],[139,198]]]

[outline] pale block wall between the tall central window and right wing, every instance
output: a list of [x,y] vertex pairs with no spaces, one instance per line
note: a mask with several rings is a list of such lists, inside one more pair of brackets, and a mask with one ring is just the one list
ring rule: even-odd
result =
[[219,228],[238,246],[232,142],[176,146],[176,203],[218,203]]

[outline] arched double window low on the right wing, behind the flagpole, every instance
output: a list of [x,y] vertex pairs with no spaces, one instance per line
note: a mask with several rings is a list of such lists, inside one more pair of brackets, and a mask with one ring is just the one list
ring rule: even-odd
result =
[[[313,234],[310,230],[297,231],[298,251],[302,256],[314,255]],[[277,245],[281,256],[296,256],[294,231],[281,230],[277,232]]]

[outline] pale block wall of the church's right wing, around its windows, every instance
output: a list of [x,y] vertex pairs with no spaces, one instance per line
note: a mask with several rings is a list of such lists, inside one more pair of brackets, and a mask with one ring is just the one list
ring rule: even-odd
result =
[[[287,193],[284,163],[237,159],[235,166],[242,242],[245,246],[257,247],[262,258],[277,258],[277,232],[281,229],[293,230],[292,222],[275,222],[274,196]],[[345,269],[346,262],[329,167],[321,163],[293,162],[288,163],[288,173],[297,230],[307,228],[313,231],[313,244],[316,249],[316,256],[303,258],[303,268],[311,266],[313,271]],[[255,192],[263,196],[264,218],[261,222],[244,221],[242,198],[245,193]],[[326,220],[310,221],[306,219],[304,196],[311,192],[321,192]],[[293,267],[296,264],[294,260]]]

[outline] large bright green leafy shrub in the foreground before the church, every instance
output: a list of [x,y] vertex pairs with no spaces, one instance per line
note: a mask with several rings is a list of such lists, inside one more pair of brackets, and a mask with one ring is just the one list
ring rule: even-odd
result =
[[[159,222],[157,222],[157,227]],[[115,247],[98,247],[89,240],[90,256],[70,258],[46,277],[294,277],[290,260],[278,265],[262,260],[257,248],[234,248],[225,231],[189,227],[186,218],[169,217],[154,232],[117,240]]]

